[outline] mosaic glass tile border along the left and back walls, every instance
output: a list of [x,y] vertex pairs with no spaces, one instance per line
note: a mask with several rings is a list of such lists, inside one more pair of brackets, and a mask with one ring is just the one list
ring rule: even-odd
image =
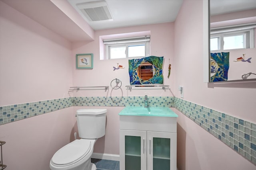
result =
[[[174,97],[148,97],[152,107],[174,107]],[[0,125],[71,106],[144,106],[144,96],[69,97],[0,106]]]

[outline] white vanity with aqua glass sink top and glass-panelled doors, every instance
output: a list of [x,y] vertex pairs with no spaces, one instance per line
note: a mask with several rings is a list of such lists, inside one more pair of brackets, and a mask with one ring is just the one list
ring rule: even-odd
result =
[[176,170],[177,117],[169,107],[125,107],[120,119],[121,170]]

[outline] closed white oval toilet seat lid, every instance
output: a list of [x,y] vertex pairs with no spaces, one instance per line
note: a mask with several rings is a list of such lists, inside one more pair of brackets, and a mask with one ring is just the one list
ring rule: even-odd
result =
[[54,166],[68,166],[84,158],[90,152],[91,142],[88,139],[77,139],[61,149],[52,157]]

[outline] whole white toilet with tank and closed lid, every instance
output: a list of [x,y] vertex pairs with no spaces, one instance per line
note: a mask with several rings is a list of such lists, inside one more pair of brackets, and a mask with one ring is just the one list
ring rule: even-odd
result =
[[59,149],[50,161],[51,170],[96,170],[91,162],[96,140],[105,135],[107,109],[78,109],[78,134],[81,139]]

